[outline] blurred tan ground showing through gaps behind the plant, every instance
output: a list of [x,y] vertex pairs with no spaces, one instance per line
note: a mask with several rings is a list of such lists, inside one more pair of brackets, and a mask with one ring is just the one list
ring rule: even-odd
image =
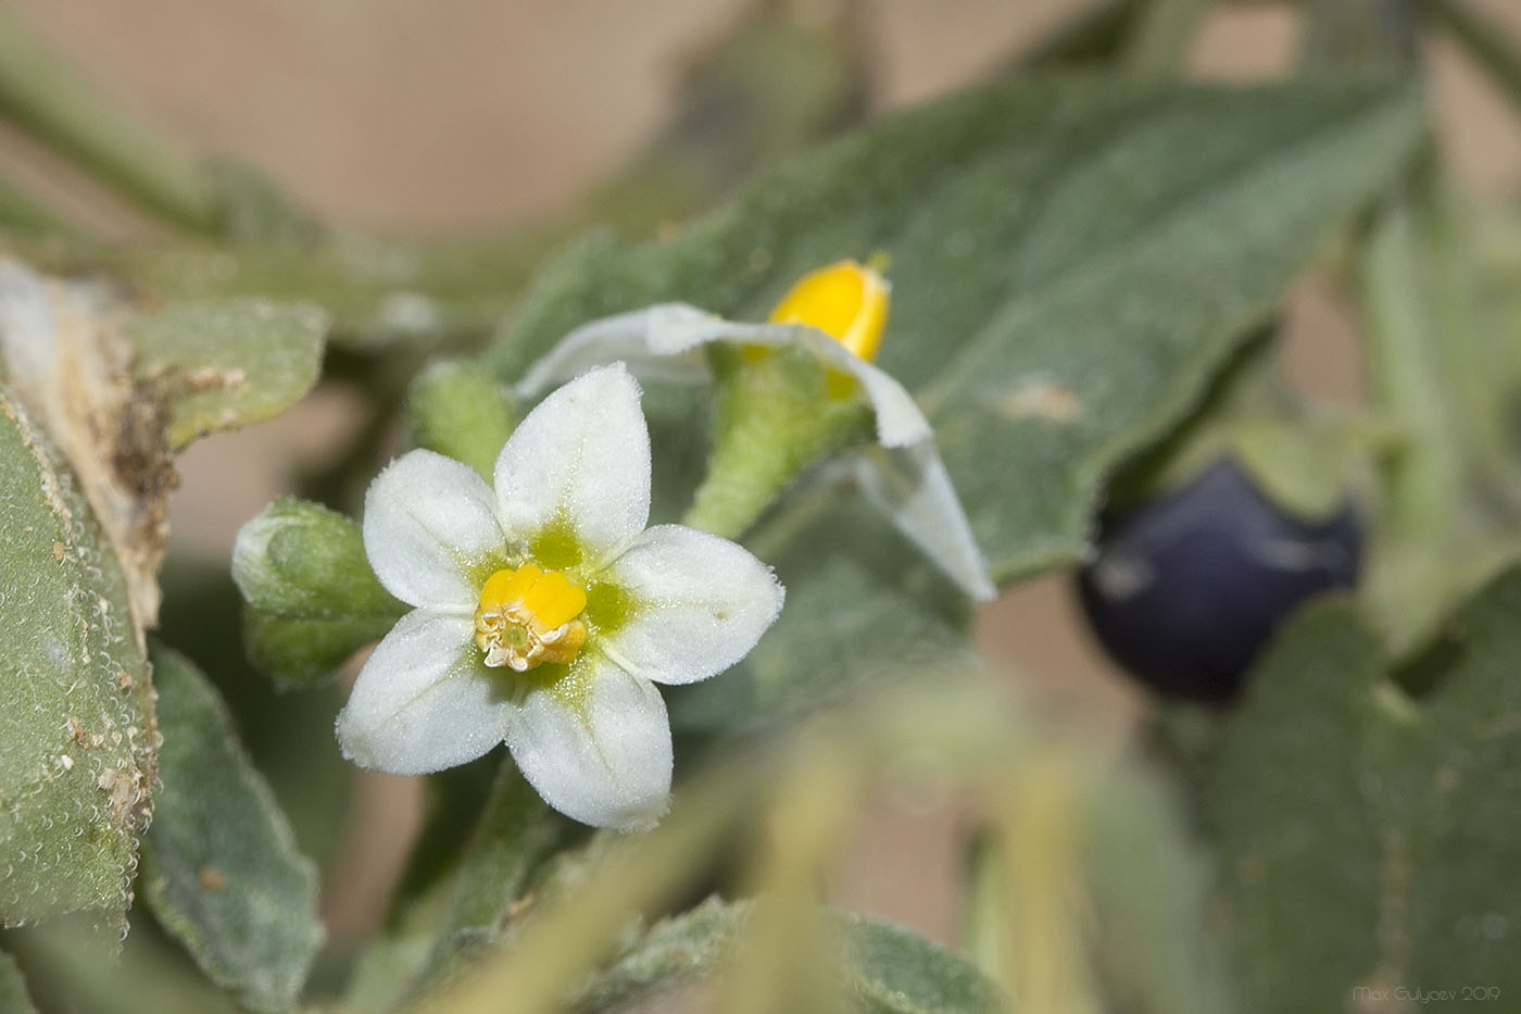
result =
[[[681,56],[748,0],[11,0],[37,35],[141,123],[189,154],[262,167],[327,221],[383,231],[478,231],[563,209],[660,125]],[[827,0],[794,2],[806,17]],[[1086,3],[861,0],[879,108],[976,81]],[[1475,3],[1521,37],[1521,3]],[[1191,58],[1214,79],[1273,76],[1294,52],[1287,6],[1211,15]],[[1428,47],[1446,151],[1475,192],[1516,192],[1521,129],[1448,46]],[[151,230],[32,145],[0,131],[0,172],[117,238]],[[1360,391],[1355,321],[1314,280],[1290,309],[1291,365],[1314,391]],[[181,460],[173,548],[225,559],[233,533],[321,457],[345,407],[309,399],[289,416],[196,445]],[[1121,735],[1135,694],[1072,621],[1065,582],[1008,594],[981,617],[987,655],[1028,676],[1051,706]],[[406,780],[376,776],[350,834],[367,862],[329,883],[335,935],[379,914],[415,815]],[[837,900],[952,939],[960,863],[945,805],[873,805],[834,882]]]

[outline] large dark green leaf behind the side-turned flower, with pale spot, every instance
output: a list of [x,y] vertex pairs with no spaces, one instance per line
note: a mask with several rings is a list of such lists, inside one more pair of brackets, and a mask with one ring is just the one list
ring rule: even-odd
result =
[[1021,81],[794,161],[677,239],[583,245],[490,353],[663,300],[762,320],[891,259],[879,365],[935,425],[993,574],[1072,563],[1109,469],[1174,425],[1422,126],[1405,85]]

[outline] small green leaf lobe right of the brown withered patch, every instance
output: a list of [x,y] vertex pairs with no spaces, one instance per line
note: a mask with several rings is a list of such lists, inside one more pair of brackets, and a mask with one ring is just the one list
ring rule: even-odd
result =
[[172,303],[128,323],[140,382],[161,385],[173,449],[260,422],[316,384],[327,314],[307,303]]

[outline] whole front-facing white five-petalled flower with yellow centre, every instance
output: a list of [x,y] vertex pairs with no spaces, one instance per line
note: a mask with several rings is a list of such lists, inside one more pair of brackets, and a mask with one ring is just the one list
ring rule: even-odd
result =
[[338,716],[344,755],[424,773],[505,740],[557,810],[648,827],[671,790],[671,726],[654,684],[738,662],[776,620],[782,588],[727,539],[645,528],[649,432],[622,364],[531,411],[494,484],[412,451],[370,486],[365,553],[415,609]]

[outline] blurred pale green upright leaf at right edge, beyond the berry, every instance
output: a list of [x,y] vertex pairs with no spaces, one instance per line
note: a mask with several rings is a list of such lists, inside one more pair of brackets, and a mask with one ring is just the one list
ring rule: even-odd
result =
[[1477,263],[1475,213],[1422,183],[1383,209],[1358,265],[1372,397],[1395,428],[1367,600],[1396,653],[1521,557],[1513,308]]

